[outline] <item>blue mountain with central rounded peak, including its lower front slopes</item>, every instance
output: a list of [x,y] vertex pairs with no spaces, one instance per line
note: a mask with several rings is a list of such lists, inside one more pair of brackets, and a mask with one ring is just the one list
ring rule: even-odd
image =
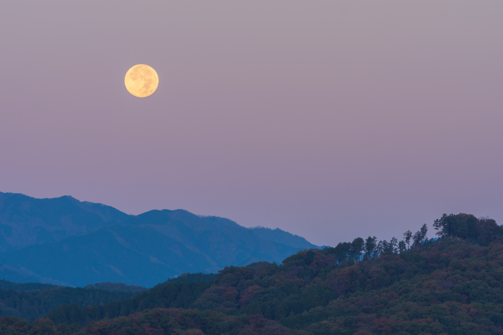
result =
[[72,286],[111,281],[152,287],[186,272],[217,272],[253,260],[280,261],[300,249],[263,241],[230,220],[164,210],[3,256],[9,266]]

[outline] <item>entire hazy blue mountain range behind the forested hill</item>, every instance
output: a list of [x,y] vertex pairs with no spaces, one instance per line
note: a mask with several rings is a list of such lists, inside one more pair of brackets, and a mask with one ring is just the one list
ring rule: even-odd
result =
[[182,209],[128,215],[71,196],[0,192],[0,279],[13,282],[152,287],[187,272],[280,263],[309,248],[320,247],[280,229]]

